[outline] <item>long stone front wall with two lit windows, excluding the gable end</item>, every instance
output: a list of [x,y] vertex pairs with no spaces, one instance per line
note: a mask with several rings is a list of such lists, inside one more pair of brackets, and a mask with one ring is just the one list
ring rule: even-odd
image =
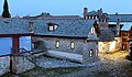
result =
[[[54,50],[54,51],[62,51],[62,52],[67,52],[67,53],[76,53],[76,54],[81,54],[84,52],[84,41],[80,38],[58,38],[58,37],[32,37],[35,41],[43,41],[45,48],[46,50]],[[55,44],[56,41],[59,42],[59,47],[56,48]],[[75,48],[70,48],[70,43],[75,43]]]

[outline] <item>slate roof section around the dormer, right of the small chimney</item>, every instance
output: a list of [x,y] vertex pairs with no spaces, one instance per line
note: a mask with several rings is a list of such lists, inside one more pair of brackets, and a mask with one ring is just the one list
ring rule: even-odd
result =
[[[87,37],[95,20],[35,20],[35,34],[53,36]],[[48,22],[58,24],[58,28],[50,32]]]

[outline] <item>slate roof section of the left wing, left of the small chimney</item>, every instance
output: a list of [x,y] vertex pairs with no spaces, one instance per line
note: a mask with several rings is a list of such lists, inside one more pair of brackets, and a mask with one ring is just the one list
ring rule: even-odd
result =
[[28,23],[18,19],[0,19],[0,34],[29,33]]

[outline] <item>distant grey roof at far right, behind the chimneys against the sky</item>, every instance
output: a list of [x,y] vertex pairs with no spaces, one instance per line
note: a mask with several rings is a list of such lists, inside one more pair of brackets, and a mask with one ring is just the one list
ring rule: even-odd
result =
[[108,14],[110,22],[117,22],[118,19],[121,22],[132,22],[132,14]]

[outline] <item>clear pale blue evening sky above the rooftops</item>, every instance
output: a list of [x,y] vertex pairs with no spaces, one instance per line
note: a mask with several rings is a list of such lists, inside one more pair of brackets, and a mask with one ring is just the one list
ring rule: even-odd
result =
[[[108,13],[132,13],[132,0],[8,0],[9,10],[14,16],[37,15],[50,12],[53,15],[82,15],[82,8],[89,11],[103,9]],[[0,1],[2,13],[3,0]]]

